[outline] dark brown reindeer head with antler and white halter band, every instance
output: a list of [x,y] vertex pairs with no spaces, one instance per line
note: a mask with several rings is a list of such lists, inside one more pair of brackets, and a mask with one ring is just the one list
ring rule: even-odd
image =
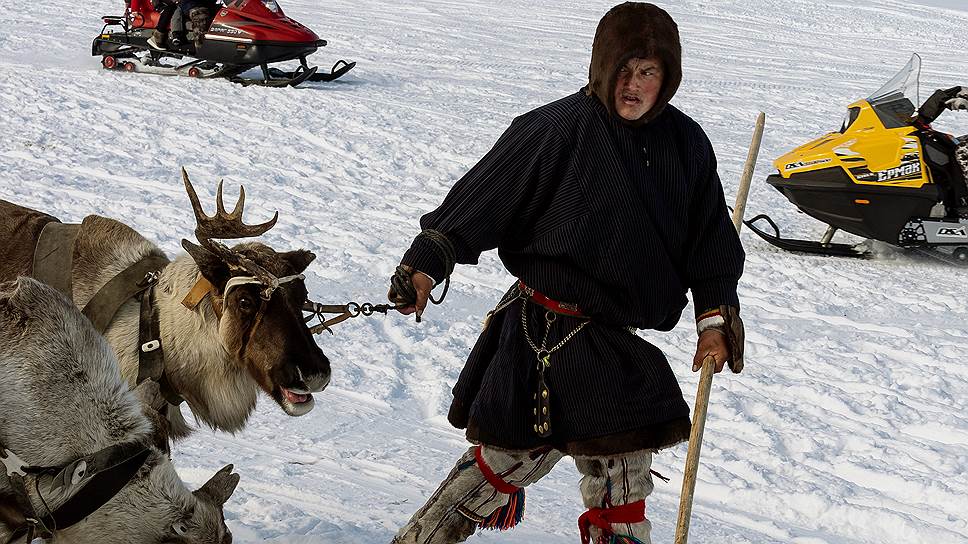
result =
[[279,214],[260,225],[244,224],[245,189],[240,188],[235,209],[226,213],[219,182],[217,211],[209,217],[184,169],[182,177],[201,244],[182,240],[182,247],[213,286],[222,347],[287,414],[309,412],[312,393],[325,389],[330,379],[329,360],[302,314],[307,300],[302,272],[316,256],[305,250],[277,253],[260,243],[229,248],[215,241],[259,236],[276,224]]

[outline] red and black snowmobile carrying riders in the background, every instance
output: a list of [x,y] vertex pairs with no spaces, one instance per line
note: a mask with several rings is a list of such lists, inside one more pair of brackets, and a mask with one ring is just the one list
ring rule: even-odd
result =
[[[355,62],[338,61],[330,73],[317,73],[306,56],[326,45],[312,30],[287,17],[275,0],[230,0],[224,6],[214,4],[211,20],[196,24],[179,17],[172,3],[174,17],[164,4],[158,11],[151,0],[127,0],[123,16],[103,17],[104,28],[94,39],[92,54],[102,57],[107,69],[147,72],[190,77],[227,78],[244,85],[272,87],[295,86],[304,81],[332,81],[349,72]],[[172,40],[164,48],[152,47],[149,39],[159,26],[168,25],[177,35],[186,30],[196,32],[195,39]],[[204,26],[204,30],[193,28]],[[167,30],[167,29],[162,29]],[[153,43],[153,42],[152,42]],[[299,59],[292,72],[269,68],[269,64]],[[173,63],[173,64],[172,64]],[[244,78],[242,74],[261,67],[261,78]]]

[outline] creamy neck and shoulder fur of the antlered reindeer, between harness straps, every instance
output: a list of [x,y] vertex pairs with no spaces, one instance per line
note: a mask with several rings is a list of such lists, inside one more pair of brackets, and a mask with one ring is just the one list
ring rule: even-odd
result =
[[[155,244],[113,219],[89,216],[82,225],[75,258],[83,260],[75,262],[73,269],[73,296],[78,308],[131,264],[150,254],[161,254]],[[206,297],[195,310],[181,304],[197,278],[195,261],[181,254],[163,270],[155,287],[165,372],[198,420],[214,429],[235,432],[242,429],[255,409],[259,387],[222,347],[219,320],[211,303],[214,295]],[[132,388],[138,377],[139,319],[140,303],[129,301],[104,332],[114,346],[121,375]],[[172,438],[192,432],[178,407],[169,405],[167,412]]]

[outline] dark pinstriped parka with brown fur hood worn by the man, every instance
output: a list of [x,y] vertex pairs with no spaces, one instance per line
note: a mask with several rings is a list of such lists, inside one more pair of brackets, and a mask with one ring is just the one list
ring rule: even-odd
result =
[[[697,315],[738,308],[744,253],[712,145],[699,124],[669,104],[681,80],[675,23],[650,24],[644,36],[621,24],[597,35],[589,85],[515,119],[420,220],[423,229],[446,235],[458,263],[476,264],[497,248],[524,284],[590,318],[545,370],[548,436],[534,430],[538,365],[521,316],[528,312],[528,334],[540,339],[546,310],[515,303],[491,319],[454,387],[449,414],[472,442],[605,456],[688,438],[689,407],[669,362],[630,329],[672,329],[687,291]],[[665,73],[655,106],[635,122],[616,115],[612,103],[618,68],[632,57],[657,57]],[[424,237],[402,263],[444,279],[444,264]],[[557,317],[549,345],[582,321]]]

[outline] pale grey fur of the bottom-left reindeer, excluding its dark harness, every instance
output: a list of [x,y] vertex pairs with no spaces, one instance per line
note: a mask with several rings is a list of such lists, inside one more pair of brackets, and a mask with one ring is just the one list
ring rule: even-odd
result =
[[[105,339],[66,297],[28,278],[0,283],[0,407],[0,441],[30,465],[60,466],[113,444],[149,443],[152,432]],[[0,473],[0,496],[10,491]],[[126,487],[53,542],[157,543],[174,539],[176,525],[190,542],[231,538],[221,502],[186,489],[167,456],[152,449]],[[12,529],[0,523],[0,542]]]

